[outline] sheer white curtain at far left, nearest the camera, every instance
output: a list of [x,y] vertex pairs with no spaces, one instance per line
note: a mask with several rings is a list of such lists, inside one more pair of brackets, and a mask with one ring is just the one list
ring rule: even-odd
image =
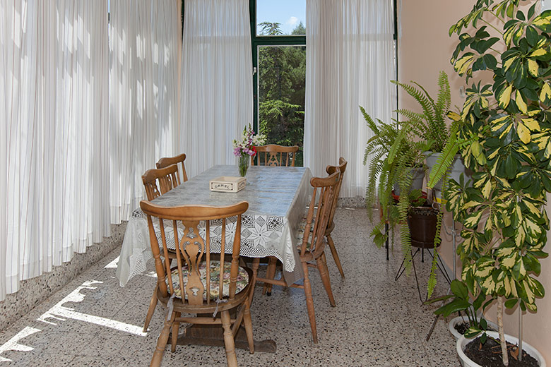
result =
[[0,300],[109,235],[106,14],[0,2]]

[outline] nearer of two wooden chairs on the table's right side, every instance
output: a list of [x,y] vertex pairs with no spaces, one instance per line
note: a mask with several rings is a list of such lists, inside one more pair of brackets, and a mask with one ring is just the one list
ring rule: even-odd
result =
[[[329,297],[329,303],[335,307],[335,299],[333,299],[333,291],[331,291],[331,280],[327,269],[327,260],[325,255],[325,233],[331,209],[335,202],[336,188],[339,182],[340,172],[334,172],[326,178],[313,177],[310,180],[310,185],[314,188],[312,200],[310,200],[307,217],[303,219],[299,227],[297,250],[300,253],[300,263],[304,270],[304,284],[287,284],[285,278],[273,279],[275,272],[275,261],[270,261],[266,278],[257,276],[260,259],[256,258],[253,261],[253,276],[254,282],[264,282],[267,284],[275,284],[283,287],[295,287],[304,289],[306,294],[306,306],[310,327],[312,328],[312,338],[314,343],[318,342],[316,330],[316,317],[314,313],[314,299],[312,298],[312,285],[310,284],[308,267],[317,267],[321,282]],[[318,195],[319,194],[319,195]],[[318,200],[316,200],[316,198]],[[316,203],[317,202],[317,203]],[[312,263],[314,262],[314,263]]]

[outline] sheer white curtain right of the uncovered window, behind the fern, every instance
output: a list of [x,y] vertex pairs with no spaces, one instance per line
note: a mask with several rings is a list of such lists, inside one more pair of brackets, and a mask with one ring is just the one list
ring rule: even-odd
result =
[[392,1],[307,0],[306,9],[304,165],[323,176],[345,157],[340,196],[363,196],[371,134],[358,106],[384,121],[396,109]]

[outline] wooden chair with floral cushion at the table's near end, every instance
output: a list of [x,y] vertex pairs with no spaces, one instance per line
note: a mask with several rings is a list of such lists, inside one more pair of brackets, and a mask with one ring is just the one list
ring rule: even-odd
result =
[[[165,325],[160,332],[157,347],[150,366],[160,366],[162,355],[172,331],[172,351],[176,350],[180,323],[222,325],[228,366],[237,366],[235,356],[235,334],[243,323],[247,332],[250,353],[254,353],[249,296],[252,271],[239,266],[241,248],[241,217],[249,207],[242,202],[227,207],[205,205],[184,205],[179,207],[161,207],[146,200],[140,203],[141,210],[148,217],[151,250],[155,259],[158,283],[155,291],[157,298],[165,308]],[[227,218],[237,216],[231,261],[220,255],[219,261],[211,261],[210,221],[221,219],[221,253],[225,253]],[[153,218],[159,219],[160,235],[155,233]],[[163,220],[164,219],[164,220]],[[172,225],[167,226],[170,221]],[[204,221],[204,222],[201,222]],[[204,223],[204,236],[200,227]],[[180,228],[180,229],[179,229]],[[161,243],[158,242],[160,239]],[[171,269],[167,241],[174,241],[177,267]],[[160,250],[163,253],[160,253]],[[161,259],[161,255],[164,259]],[[219,291],[219,290],[222,291]],[[230,318],[230,310],[239,308],[235,319]],[[182,314],[196,314],[189,317]],[[201,313],[211,313],[202,317]],[[233,325],[232,325],[233,322]]]

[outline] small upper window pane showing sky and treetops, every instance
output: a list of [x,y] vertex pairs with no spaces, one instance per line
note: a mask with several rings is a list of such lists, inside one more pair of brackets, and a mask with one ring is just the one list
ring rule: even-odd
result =
[[306,35],[306,0],[256,0],[256,35]]

